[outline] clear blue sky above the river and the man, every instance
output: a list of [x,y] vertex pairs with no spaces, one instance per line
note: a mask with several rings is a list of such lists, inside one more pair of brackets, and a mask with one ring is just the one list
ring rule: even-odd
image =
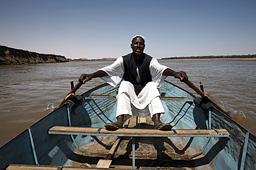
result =
[[255,0],[0,0],[0,45],[69,59],[256,54]]

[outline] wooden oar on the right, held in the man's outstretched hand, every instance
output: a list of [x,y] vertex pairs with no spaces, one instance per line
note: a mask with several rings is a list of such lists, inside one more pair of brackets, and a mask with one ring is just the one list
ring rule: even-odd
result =
[[214,107],[216,109],[218,109],[219,111],[221,111],[223,114],[226,114],[227,116],[229,116],[230,118],[234,119],[234,120],[237,120],[237,118],[235,118],[235,115],[233,115],[233,117],[230,116],[230,111],[225,111],[222,107],[220,107],[216,100],[209,94],[209,93],[204,93],[201,91],[201,89],[199,89],[199,87],[196,87],[196,85],[194,85],[194,83],[192,83],[191,81],[187,80],[187,81],[184,81],[184,83],[186,85],[188,85],[188,87],[194,89],[194,91],[199,94],[202,98],[205,98],[207,100],[210,101],[210,103],[212,103],[212,105],[214,105]]

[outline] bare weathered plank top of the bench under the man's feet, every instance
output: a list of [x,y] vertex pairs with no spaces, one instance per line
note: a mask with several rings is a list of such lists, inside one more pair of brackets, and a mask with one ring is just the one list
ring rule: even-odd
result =
[[[124,134],[124,135],[147,135],[147,134],[158,134],[158,135],[217,135],[217,131],[214,129],[177,129],[171,131],[161,131],[158,129],[117,129],[115,131],[110,131],[107,129],[100,129],[95,127],[52,127],[49,129],[49,134],[53,134],[51,132],[64,132],[66,134]],[[221,134],[228,135],[228,131],[226,129],[217,129]],[[113,135],[115,136],[115,135]]]

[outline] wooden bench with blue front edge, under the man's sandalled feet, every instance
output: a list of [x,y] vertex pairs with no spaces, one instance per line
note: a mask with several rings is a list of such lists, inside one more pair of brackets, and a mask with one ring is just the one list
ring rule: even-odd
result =
[[49,134],[89,135],[89,136],[131,136],[131,137],[229,137],[226,129],[117,129],[107,130],[95,127],[60,127],[49,129]]

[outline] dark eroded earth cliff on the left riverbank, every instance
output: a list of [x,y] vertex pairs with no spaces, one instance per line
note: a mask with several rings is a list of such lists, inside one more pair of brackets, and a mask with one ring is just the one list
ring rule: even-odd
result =
[[0,65],[68,62],[65,56],[39,54],[0,45]]

